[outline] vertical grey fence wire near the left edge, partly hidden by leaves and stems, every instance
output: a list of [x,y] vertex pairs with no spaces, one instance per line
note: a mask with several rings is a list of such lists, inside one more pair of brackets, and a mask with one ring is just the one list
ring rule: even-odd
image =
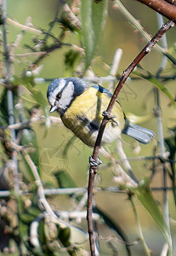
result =
[[[6,79],[9,82],[9,78],[11,76],[10,72],[10,60],[9,60],[9,49],[7,42],[7,32],[6,32],[6,0],[2,1],[2,21],[3,21],[3,49],[5,55],[5,65],[6,65]],[[13,100],[13,92],[12,90],[8,90],[7,94],[8,101],[8,112],[9,112],[9,125],[14,125],[14,100]],[[10,130],[11,141],[15,143],[15,131],[14,129]],[[13,160],[16,168],[14,168],[14,190],[19,190],[19,180],[18,180],[18,163],[16,153],[13,153]]]

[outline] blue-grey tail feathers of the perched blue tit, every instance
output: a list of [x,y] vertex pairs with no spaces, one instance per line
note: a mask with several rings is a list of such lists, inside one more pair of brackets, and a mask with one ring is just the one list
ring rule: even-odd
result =
[[122,133],[133,137],[139,143],[143,144],[150,143],[150,140],[155,136],[155,132],[130,122],[128,122],[128,125],[123,129]]

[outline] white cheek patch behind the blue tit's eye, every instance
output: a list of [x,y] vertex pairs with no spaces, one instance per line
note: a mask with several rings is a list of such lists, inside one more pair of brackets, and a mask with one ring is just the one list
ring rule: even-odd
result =
[[74,95],[74,84],[69,82],[65,89],[62,92],[62,96],[60,98],[60,108],[66,109],[73,99]]

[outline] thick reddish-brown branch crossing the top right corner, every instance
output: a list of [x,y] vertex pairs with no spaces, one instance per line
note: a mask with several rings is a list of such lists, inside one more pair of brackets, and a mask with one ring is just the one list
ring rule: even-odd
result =
[[151,9],[156,10],[157,13],[167,17],[169,20],[176,22],[176,7],[173,0],[137,0],[141,3],[145,3]]

